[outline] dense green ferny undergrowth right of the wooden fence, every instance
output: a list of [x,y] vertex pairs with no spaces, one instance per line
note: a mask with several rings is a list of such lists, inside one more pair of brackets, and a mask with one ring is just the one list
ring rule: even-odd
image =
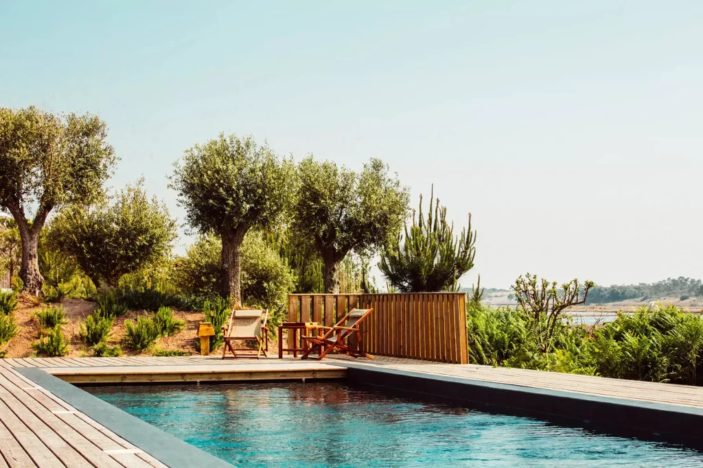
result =
[[[546,317],[541,316],[542,326]],[[703,385],[703,319],[673,306],[620,313],[588,333],[568,317],[542,352],[526,314],[467,305],[470,361],[489,366],[585,373],[652,382]]]

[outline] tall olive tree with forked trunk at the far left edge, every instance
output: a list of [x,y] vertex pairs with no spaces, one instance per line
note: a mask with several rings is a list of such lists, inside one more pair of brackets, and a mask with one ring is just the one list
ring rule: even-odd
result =
[[[41,294],[37,244],[51,210],[101,196],[117,160],[106,138],[98,116],[0,107],[0,208],[13,216],[20,232],[25,292]],[[33,218],[27,220],[30,212]]]

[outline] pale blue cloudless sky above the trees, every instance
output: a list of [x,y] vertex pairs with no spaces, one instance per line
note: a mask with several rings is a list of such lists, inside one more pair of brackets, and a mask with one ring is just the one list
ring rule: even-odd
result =
[[478,230],[464,286],[703,276],[701,1],[0,0],[0,21],[0,105],[100,114],[110,185],[143,175],[181,220],[172,163],[225,131],[379,157],[413,206],[434,182]]

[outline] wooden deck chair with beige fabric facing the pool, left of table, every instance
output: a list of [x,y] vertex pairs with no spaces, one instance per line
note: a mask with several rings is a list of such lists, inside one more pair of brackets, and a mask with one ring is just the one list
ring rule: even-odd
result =
[[[256,358],[259,359],[262,353],[269,351],[269,310],[233,310],[229,316],[229,325],[222,327],[224,335],[224,347],[222,349],[222,359],[225,358]],[[256,341],[257,347],[236,348],[233,341]],[[232,352],[232,356],[225,356],[227,349]],[[238,351],[256,351],[257,354],[237,354]]]

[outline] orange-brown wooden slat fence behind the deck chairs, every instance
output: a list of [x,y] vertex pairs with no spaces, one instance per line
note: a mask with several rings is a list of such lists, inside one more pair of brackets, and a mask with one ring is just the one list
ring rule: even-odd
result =
[[[332,326],[349,310],[373,308],[361,350],[378,356],[467,364],[465,293],[290,294],[288,321]],[[288,342],[292,333],[288,334]]]

